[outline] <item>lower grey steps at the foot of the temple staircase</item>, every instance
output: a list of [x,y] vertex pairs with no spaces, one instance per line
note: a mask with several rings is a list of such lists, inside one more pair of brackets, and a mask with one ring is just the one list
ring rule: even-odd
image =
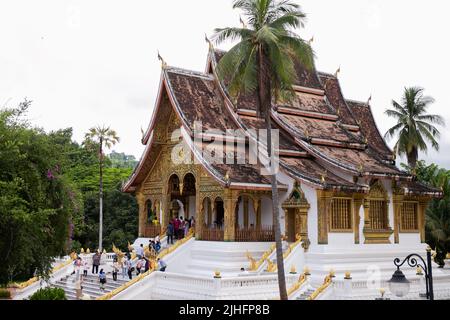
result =
[[[109,293],[121,285],[127,283],[128,278],[122,279],[122,276],[119,274],[117,277],[117,281],[114,281],[111,276],[106,277],[106,284],[104,285],[105,290],[100,289],[100,283],[98,282],[97,275],[88,275],[84,278],[83,281],[83,295],[88,295],[91,297],[91,300],[94,300],[98,297],[103,296],[106,293]],[[75,275],[68,275],[56,282],[52,283],[52,287],[61,288],[66,293],[67,300],[76,300],[76,291],[75,291]]]

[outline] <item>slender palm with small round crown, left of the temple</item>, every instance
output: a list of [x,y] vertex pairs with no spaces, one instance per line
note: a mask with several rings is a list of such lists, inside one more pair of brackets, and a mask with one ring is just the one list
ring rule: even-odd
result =
[[99,188],[99,236],[98,236],[98,249],[100,252],[103,250],[103,146],[106,149],[110,149],[113,145],[120,142],[120,138],[117,136],[116,131],[110,129],[110,127],[97,126],[89,129],[89,132],[85,135],[86,144],[94,144],[98,146],[99,157],[99,171],[100,171],[100,188]]

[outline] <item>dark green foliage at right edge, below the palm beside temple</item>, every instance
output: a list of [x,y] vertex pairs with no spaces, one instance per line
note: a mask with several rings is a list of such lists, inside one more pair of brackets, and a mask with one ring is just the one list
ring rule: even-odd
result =
[[430,203],[426,216],[427,242],[436,248],[436,261],[442,265],[450,252],[450,170],[439,168],[436,164],[427,166],[424,161],[419,161],[415,171],[419,181],[444,193],[441,199]]

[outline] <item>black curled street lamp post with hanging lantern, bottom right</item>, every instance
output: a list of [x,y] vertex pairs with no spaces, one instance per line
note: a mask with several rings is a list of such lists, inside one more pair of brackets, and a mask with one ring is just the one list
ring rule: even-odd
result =
[[427,261],[418,255],[417,253],[410,254],[407,256],[402,262],[399,258],[394,260],[394,264],[397,267],[397,270],[392,275],[391,280],[389,280],[389,288],[393,294],[397,297],[403,297],[408,294],[410,288],[410,282],[406,279],[403,272],[400,270],[400,267],[405,263],[408,263],[410,267],[420,266],[425,272],[425,287],[426,287],[426,296],[429,300],[434,300],[434,292],[433,292],[433,266],[431,264],[431,248],[427,248]]

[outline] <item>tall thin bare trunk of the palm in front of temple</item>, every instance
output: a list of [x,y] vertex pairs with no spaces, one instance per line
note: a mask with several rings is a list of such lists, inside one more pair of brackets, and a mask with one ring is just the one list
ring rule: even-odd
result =
[[[270,116],[272,109],[272,92],[270,81],[269,65],[267,63],[267,59],[265,58],[263,49],[260,48],[258,54],[258,111],[260,115],[265,116],[267,129],[267,152],[270,158],[270,166],[273,166],[275,161],[275,150],[272,150],[272,125]],[[284,273],[283,245],[281,242],[278,184],[276,173],[272,171],[270,171],[270,173],[272,173],[270,175],[270,180],[272,184],[272,215],[277,255],[278,287],[280,290],[280,300],[288,300],[286,277]]]

